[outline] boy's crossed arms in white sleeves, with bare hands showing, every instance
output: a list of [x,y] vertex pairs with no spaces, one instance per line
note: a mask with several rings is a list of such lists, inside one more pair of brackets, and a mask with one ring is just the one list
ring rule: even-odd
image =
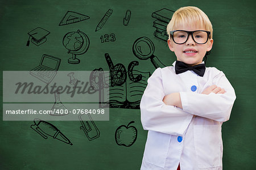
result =
[[156,69],[148,79],[147,88],[141,99],[143,128],[183,135],[193,115],[219,122],[229,120],[236,99],[234,89],[222,72],[218,74],[214,83],[201,94],[174,92],[166,95],[161,70]]

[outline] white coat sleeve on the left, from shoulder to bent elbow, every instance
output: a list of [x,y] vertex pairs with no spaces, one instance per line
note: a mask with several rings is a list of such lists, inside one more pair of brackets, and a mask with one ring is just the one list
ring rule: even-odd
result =
[[163,103],[165,95],[160,68],[154,71],[147,82],[140,105],[143,129],[182,136],[193,115]]

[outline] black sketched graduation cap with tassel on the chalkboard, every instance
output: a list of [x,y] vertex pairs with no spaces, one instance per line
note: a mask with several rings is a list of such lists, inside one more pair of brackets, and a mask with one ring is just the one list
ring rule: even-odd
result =
[[35,28],[32,31],[28,32],[27,34],[30,36],[28,37],[28,41],[27,41],[27,46],[30,45],[30,38],[32,37],[31,41],[39,46],[41,44],[43,44],[44,42],[46,42],[46,36],[49,35],[49,31],[47,31],[46,29],[43,29],[41,27]]

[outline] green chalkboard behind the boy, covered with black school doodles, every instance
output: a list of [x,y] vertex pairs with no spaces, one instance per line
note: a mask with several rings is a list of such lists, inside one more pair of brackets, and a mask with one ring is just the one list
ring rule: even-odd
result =
[[[109,58],[113,66],[119,64],[126,73],[129,66],[133,66],[134,70],[149,76],[155,70],[154,63],[150,58],[135,56],[134,44],[147,41],[151,45],[147,50],[161,65],[170,66],[175,54],[168,49],[166,35],[161,32],[164,19],[163,23],[157,21],[163,16],[156,13],[166,10],[171,18],[173,11],[182,6],[197,6],[208,15],[213,24],[214,44],[207,66],[223,71],[236,91],[230,120],[222,125],[223,167],[254,169],[254,1],[0,1],[1,70],[29,71],[47,54],[61,59],[59,71],[109,70],[106,59]],[[73,46],[68,46],[64,37],[70,38],[69,32],[83,37],[84,42],[77,39]],[[1,94],[2,84],[1,74]],[[3,97],[1,101],[3,103]],[[118,145],[116,135],[129,123],[133,141]],[[0,169],[130,170],[141,167],[147,131],[141,125],[138,103],[124,101],[110,105],[109,121],[94,121],[98,130],[95,138],[85,135],[79,120],[40,122],[44,126],[54,125],[73,145],[44,139],[31,128],[34,124],[1,118]]]

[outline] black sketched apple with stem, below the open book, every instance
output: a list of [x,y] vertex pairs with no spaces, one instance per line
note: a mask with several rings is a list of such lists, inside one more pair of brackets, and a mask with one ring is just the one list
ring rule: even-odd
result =
[[133,123],[134,121],[131,121],[127,126],[121,125],[115,130],[115,142],[117,142],[117,145],[129,147],[136,141],[137,129],[134,126],[129,126]]

